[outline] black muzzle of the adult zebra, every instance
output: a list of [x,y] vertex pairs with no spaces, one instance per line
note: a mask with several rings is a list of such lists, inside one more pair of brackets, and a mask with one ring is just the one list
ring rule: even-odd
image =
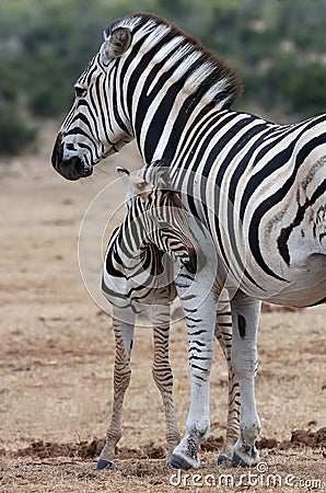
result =
[[54,169],[66,180],[75,181],[90,176],[93,167],[86,165],[78,156],[63,158],[62,134],[59,133],[53,150],[51,162]]

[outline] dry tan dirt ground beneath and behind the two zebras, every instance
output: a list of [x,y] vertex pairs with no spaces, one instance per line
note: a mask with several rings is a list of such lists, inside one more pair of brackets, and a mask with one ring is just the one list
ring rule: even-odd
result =
[[[214,467],[226,402],[219,348],[211,439],[200,451],[201,467],[197,475],[165,469],[163,411],[150,375],[151,331],[139,328],[115,467],[95,472],[110,413],[114,337],[109,317],[82,284],[77,239],[86,207],[116,179],[115,165],[137,169],[140,162],[131,146],[92,181],[68,183],[49,164],[55,133],[45,125],[38,151],[0,165],[1,493],[325,491],[325,307],[263,313],[257,401],[267,439],[260,440],[259,470]],[[110,186],[107,215],[123,195],[119,183]],[[186,347],[179,321],[172,328],[171,359],[182,431],[189,391]]]

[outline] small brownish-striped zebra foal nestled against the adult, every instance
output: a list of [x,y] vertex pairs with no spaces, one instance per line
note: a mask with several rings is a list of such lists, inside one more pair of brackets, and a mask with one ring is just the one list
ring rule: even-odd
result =
[[[176,262],[189,275],[203,265],[202,255],[188,227],[188,214],[170,175],[159,161],[152,175],[154,186],[124,168],[118,174],[127,187],[127,215],[112,234],[105,253],[102,289],[113,309],[116,340],[114,402],[106,444],[97,469],[110,467],[121,437],[123,404],[130,382],[130,353],[136,316],[145,312],[153,326],[153,379],[161,392],[166,424],[167,460],[181,440],[173,406],[173,376],[168,360],[171,302],[176,297],[173,276]],[[164,253],[168,252],[173,261]],[[218,316],[216,336],[229,365],[229,415],[226,438],[219,461],[228,460],[238,433],[238,385],[231,367],[232,324],[225,310]]]

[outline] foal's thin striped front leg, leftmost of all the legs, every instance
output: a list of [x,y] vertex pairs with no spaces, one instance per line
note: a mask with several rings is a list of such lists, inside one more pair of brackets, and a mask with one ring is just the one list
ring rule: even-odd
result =
[[96,469],[113,466],[115,448],[123,434],[124,399],[131,378],[130,352],[133,341],[135,318],[132,323],[121,322],[114,318],[113,326],[116,342],[113,410],[106,442],[97,460]]

